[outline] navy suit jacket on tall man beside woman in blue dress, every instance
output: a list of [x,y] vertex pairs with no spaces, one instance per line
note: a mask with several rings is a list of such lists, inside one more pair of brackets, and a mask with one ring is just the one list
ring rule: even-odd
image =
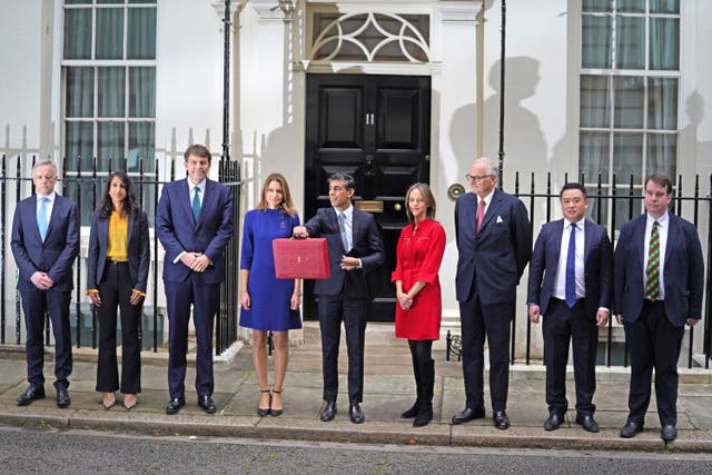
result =
[[190,207],[187,178],[164,186],[156,212],[156,236],[166,250],[165,281],[184,281],[191,270],[180,260],[182,251],[202,253],[211,266],[200,274],[206,284],[219,284],[225,278],[225,247],[233,236],[233,195],[230,190],[207,179],[200,218],[195,222]]

